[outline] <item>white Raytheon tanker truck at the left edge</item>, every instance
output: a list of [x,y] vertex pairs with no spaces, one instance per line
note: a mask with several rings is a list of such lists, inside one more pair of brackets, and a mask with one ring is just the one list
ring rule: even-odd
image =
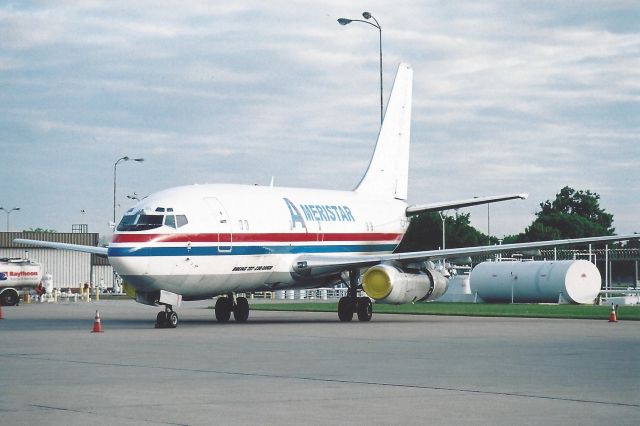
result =
[[20,296],[35,289],[41,280],[39,263],[28,259],[0,259],[0,304],[17,304]]

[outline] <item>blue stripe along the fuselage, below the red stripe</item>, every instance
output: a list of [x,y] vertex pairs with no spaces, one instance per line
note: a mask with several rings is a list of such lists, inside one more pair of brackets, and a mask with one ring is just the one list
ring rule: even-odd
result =
[[217,246],[191,247],[109,247],[109,257],[131,256],[246,256],[260,254],[302,253],[377,253],[392,252],[397,244],[359,244],[323,246],[233,246],[231,250]]

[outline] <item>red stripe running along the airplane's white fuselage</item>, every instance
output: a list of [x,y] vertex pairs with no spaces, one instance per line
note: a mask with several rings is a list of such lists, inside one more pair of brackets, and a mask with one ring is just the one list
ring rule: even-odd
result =
[[[342,234],[342,233],[267,233],[267,234],[116,234],[112,243],[210,243],[231,241],[234,243],[288,243],[288,242],[317,242],[317,241],[386,241],[397,242],[403,234],[374,233]],[[218,237],[219,236],[219,237]],[[220,238],[220,239],[218,239]]]

